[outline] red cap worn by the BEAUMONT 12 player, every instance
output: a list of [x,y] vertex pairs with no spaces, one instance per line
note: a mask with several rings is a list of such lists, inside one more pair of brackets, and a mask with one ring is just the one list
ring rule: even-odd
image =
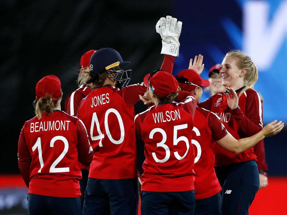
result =
[[54,100],[61,97],[61,82],[57,76],[48,75],[36,84],[36,99],[51,95]]

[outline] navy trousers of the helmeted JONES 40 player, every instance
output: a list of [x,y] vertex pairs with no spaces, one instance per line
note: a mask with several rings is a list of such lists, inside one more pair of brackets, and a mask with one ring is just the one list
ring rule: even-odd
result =
[[138,208],[138,179],[88,178],[84,215],[134,215]]

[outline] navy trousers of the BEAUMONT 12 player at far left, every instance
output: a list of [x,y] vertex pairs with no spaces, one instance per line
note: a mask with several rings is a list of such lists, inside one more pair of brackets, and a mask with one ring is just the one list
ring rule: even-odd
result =
[[61,198],[40,196],[28,193],[29,215],[80,215],[83,214],[82,200],[78,198]]

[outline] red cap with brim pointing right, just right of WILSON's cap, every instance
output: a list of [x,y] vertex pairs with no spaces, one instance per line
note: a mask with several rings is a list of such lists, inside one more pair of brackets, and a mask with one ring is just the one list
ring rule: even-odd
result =
[[[198,85],[199,87],[208,87],[210,85],[209,81],[207,79],[202,79],[195,70],[191,70],[191,69],[181,70],[177,74],[177,76],[178,77],[183,76],[184,78],[188,80],[188,82]],[[196,86],[184,84],[184,83],[178,83],[178,85],[181,87],[181,90],[184,90],[184,91],[192,91],[196,88]]]

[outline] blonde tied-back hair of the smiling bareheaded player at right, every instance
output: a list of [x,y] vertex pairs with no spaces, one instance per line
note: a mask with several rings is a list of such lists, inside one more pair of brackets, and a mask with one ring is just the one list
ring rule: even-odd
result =
[[[234,57],[237,59],[236,66],[239,69],[246,69],[246,73],[244,76],[244,86],[245,88],[241,90],[239,93],[240,97],[246,90],[253,89],[254,85],[258,80],[258,70],[256,64],[251,60],[251,58],[244,52],[240,50],[231,50],[229,51],[225,57]],[[256,91],[256,90],[255,90]],[[263,98],[260,95],[261,102],[263,102]]]

